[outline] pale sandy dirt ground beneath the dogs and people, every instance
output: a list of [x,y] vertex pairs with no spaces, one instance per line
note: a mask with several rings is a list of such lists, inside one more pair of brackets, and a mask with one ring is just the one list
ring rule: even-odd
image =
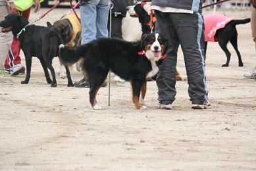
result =
[[[32,12],[30,21],[46,10]],[[46,26],[66,11],[55,9],[36,24]],[[250,16],[249,10],[224,12]],[[28,85],[20,84],[25,75],[0,78],[0,170],[256,170],[256,81],[243,78],[256,64],[255,46],[250,24],[237,29],[243,67],[230,44],[228,68],[221,67],[226,56],[218,43],[208,45],[207,110],[190,109],[186,81],[176,83],[172,110],[157,109],[155,82],[147,85],[147,110],[136,110],[130,84],[113,81],[111,105],[103,87],[97,98],[104,109],[92,110],[89,89],[66,87],[59,77],[50,87],[36,58]],[[57,72],[58,59],[53,63]],[[73,70],[73,81],[80,78]]]

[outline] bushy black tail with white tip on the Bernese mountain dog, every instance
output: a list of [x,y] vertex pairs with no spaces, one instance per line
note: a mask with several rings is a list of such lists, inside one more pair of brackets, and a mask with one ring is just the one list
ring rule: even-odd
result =
[[64,64],[74,64],[84,57],[85,49],[84,46],[69,48],[61,44],[59,45],[59,58]]

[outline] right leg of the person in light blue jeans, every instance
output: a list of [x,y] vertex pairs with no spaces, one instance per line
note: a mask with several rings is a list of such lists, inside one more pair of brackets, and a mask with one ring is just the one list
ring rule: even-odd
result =
[[109,37],[109,32],[107,30],[107,21],[109,19],[109,0],[100,0],[96,9],[96,38]]

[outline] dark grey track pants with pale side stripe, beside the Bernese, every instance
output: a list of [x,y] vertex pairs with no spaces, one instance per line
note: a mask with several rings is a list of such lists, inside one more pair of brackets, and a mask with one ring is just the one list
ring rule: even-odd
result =
[[188,76],[188,93],[192,104],[203,105],[207,100],[204,61],[204,25],[201,13],[170,13],[156,11],[156,32],[168,39],[168,57],[157,74],[158,100],[171,104],[176,95],[175,70],[179,45],[184,54]]

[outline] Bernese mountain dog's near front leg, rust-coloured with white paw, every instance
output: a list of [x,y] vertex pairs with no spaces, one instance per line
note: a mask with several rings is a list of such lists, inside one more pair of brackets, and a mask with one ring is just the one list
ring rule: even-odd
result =
[[[138,81],[138,80],[132,80],[131,84],[132,84],[132,101],[133,101],[136,109],[147,109],[147,107],[142,106],[140,104],[140,100],[139,100],[140,91],[142,91],[143,82]],[[143,96],[145,97],[145,94],[143,94]]]

